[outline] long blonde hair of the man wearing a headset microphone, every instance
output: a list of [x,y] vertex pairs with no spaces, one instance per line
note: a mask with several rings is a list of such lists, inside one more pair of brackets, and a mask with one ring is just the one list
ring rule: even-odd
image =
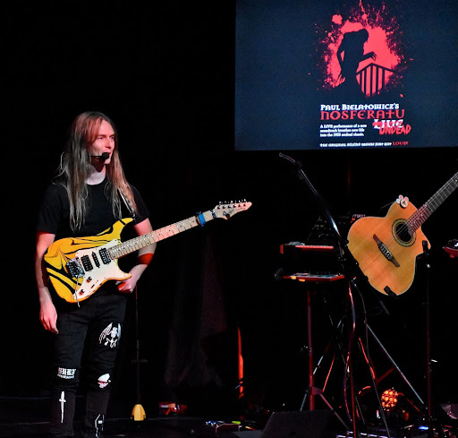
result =
[[86,180],[91,169],[88,146],[95,142],[98,129],[105,120],[114,130],[114,150],[110,164],[106,165],[106,196],[111,201],[114,217],[121,219],[121,207],[125,202],[131,213],[137,213],[131,186],[123,172],[118,153],[118,136],[113,122],[98,111],[87,111],[77,116],[72,123],[66,148],[59,167],[60,184],[64,185],[70,201],[70,227],[81,228],[88,210],[88,186]]

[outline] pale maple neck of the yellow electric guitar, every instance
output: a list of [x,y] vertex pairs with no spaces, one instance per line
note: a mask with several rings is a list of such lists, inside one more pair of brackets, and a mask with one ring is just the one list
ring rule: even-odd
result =
[[[215,219],[212,210],[201,213],[204,218],[204,223],[209,220]],[[200,225],[198,216],[191,216],[191,218],[183,219],[180,222],[176,222],[172,225],[168,225],[164,228],[158,228],[151,233],[143,236],[134,237],[133,239],[127,240],[119,245],[115,245],[108,250],[112,259],[119,259],[124,255],[138,251],[140,248],[152,245],[160,240],[164,240],[168,237],[175,236],[188,229],[198,227]],[[203,224],[202,224],[203,225]]]

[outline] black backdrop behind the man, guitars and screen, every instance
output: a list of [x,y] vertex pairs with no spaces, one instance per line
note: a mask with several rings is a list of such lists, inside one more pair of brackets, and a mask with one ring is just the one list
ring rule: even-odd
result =
[[[38,322],[35,220],[72,119],[98,109],[117,126],[125,172],[148,203],[154,227],[219,201],[253,203],[227,222],[160,243],[139,282],[140,356],[148,360],[140,366],[141,397],[148,415],[164,399],[186,403],[191,412],[241,408],[238,328],[246,399],[297,410],[307,385],[305,288],[274,274],[287,269],[280,245],[306,239],[320,211],[276,151],[234,151],[234,2],[21,2],[3,9],[7,245],[0,396],[47,394],[51,335]],[[431,31],[439,32],[440,23]],[[291,155],[335,217],[384,216],[399,194],[420,207],[458,168],[456,147]],[[456,193],[422,229],[432,245],[435,403],[456,401],[457,259],[442,249],[457,238]],[[332,291],[323,293],[339,307],[343,292]],[[423,399],[425,294],[420,274],[396,300],[362,294],[370,325]],[[389,315],[377,312],[377,299]],[[319,291],[313,303],[314,321],[324,326],[315,331],[318,356],[329,338]],[[132,296],[114,390],[127,416],[136,401],[134,321]],[[386,364],[377,348],[372,352],[383,374]]]

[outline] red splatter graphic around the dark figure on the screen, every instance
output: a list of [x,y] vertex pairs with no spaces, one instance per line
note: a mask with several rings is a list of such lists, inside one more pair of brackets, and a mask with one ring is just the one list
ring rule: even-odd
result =
[[385,4],[375,9],[360,2],[345,18],[335,13],[317,32],[323,88],[348,87],[353,82],[371,96],[399,85],[405,67],[403,33]]

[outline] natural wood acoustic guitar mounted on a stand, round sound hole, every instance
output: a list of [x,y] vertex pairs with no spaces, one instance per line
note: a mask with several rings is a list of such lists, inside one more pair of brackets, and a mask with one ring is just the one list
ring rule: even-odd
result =
[[411,287],[423,241],[430,247],[420,227],[457,187],[458,173],[418,210],[400,197],[385,218],[365,217],[352,225],[348,232],[349,250],[378,292],[397,296]]

